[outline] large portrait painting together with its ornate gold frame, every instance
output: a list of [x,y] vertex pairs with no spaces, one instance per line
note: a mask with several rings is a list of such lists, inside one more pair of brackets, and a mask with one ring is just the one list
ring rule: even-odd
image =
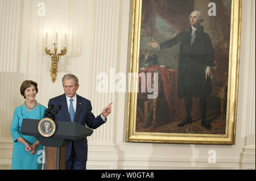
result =
[[235,144],[241,0],[133,0],[126,141]]

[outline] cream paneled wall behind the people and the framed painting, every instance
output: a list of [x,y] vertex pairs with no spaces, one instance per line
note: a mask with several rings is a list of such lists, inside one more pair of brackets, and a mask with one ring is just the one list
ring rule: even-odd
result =
[[[38,16],[38,3],[46,16]],[[76,74],[77,92],[92,101],[94,115],[113,101],[108,121],[89,138],[88,169],[255,169],[255,1],[243,1],[236,145],[177,145],[125,142],[125,93],[96,91],[97,74],[127,72],[129,0],[1,0],[0,1],[0,169],[10,169],[10,125],[14,108],[22,104],[20,83],[39,84],[37,100],[63,94],[61,77]],[[11,13],[12,12],[12,13]],[[68,31],[68,54],[60,58],[57,79],[51,82],[50,57],[44,53],[59,30],[63,44]],[[62,36],[61,36],[62,35]],[[62,45],[60,45],[62,47]],[[208,163],[208,151],[216,163]]]

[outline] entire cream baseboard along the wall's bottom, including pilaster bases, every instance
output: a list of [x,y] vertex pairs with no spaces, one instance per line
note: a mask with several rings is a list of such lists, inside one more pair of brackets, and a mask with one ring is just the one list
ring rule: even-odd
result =
[[[13,142],[0,142],[0,169],[11,169]],[[92,144],[88,148],[88,170],[172,170],[172,169],[254,169],[255,146],[242,149],[239,158],[216,158],[216,163],[209,163],[208,157],[141,157],[118,156],[112,144]]]

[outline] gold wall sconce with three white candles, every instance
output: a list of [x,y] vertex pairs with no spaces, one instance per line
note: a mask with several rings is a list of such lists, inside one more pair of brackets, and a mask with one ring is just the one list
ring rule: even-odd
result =
[[57,71],[58,71],[58,62],[59,58],[61,56],[64,56],[67,53],[67,31],[65,31],[65,40],[64,40],[64,48],[60,50],[60,53],[57,54],[57,40],[58,40],[58,31],[56,28],[56,35],[55,35],[55,43],[54,45],[54,53],[51,53],[51,50],[47,48],[47,40],[48,40],[48,32],[46,32],[46,54],[51,56],[52,58],[52,65],[51,65],[51,77],[52,77],[52,82],[55,82],[56,76],[57,76]]

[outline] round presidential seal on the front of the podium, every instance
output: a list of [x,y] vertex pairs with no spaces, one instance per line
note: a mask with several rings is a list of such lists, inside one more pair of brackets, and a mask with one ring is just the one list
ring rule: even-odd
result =
[[38,123],[38,131],[44,137],[50,137],[55,133],[56,125],[52,119],[44,118]]

